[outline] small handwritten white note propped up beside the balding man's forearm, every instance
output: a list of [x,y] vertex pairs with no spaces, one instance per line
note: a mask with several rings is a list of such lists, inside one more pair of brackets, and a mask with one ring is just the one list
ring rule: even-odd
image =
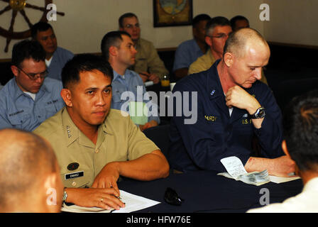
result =
[[247,173],[243,167],[243,163],[236,156],[224,157],[221,159],[221,162],[229,175],[231,175],[234,179],[237,179],[239,176]]

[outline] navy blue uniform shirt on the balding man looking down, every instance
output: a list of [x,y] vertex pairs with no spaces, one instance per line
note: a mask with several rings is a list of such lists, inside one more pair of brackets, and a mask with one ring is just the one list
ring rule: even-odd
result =
[[[283,155],[282,114],[271,90],[258,81],[251,88],[245,89],[265,107],[266,115],[261,128],[253,126],[244,109],[233,107],[230,117],[216,69],[219,62],[217,60],[209,70],[192,74],[175,84],[173,93],[190,92],[190,101],[185,96],[182,99],[182,116],[174,114],[171,120],[169,161],[172,169],[183,172],[226,172],[220,160],[229,156],[238,157],[245,165],[253,153],[253,135],[259,140],[262,157]],[[194,102],[197,104],[197,121],[185,124],[185,119],[190,118],[183,110],[185,102],[189,103],[190,110],[195,107],[191,100],[195,96],[191,92],[197,92],[197,102]],[[174,101],[174,108],[176,105]]]

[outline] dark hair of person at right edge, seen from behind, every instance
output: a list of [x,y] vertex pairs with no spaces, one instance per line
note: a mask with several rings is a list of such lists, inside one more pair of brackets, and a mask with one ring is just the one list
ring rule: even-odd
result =
[[318,90],[294,97],[285,108],[284,139],[290,157],[301,171],[317,171]]

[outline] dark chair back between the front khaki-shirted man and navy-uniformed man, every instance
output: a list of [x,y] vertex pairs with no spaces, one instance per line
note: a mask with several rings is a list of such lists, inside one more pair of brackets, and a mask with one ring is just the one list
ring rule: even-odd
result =
[[170,124],[147,128],[143,131],[145,135],[160,148],[161,152],[168,158],[169,151],[169,128]]

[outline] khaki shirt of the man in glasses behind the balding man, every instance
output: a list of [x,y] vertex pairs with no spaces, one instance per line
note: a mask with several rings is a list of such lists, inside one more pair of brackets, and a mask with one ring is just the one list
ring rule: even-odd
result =
[[[197,60],[190,65],[188,74],[193,74],[193,73],[209,70],[209,68],[212,67],[215,61],[216,60],[214,59],[212,55],[211,49],[209,49],[205,53],[205,55],[198,57]],[[263,82],[264,84],[268,84],[263,70],[262,70],[261,82]]]

